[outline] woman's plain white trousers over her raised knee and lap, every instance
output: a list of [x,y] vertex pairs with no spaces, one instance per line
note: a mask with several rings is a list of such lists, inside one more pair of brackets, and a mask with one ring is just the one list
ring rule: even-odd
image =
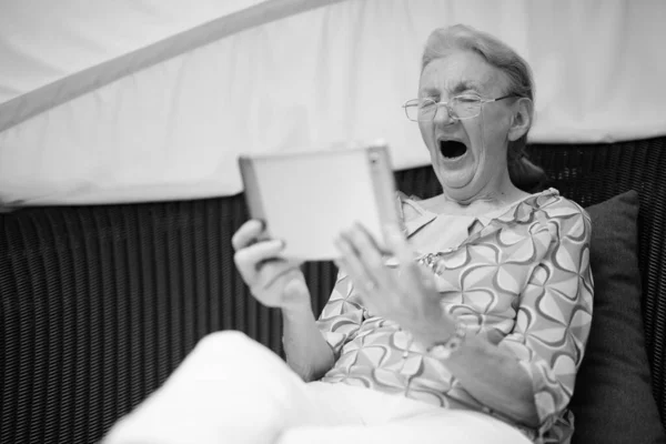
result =
[[345,384],[304,383],[240,332],[201,340],[103,444],[529,443],[477,412]]

